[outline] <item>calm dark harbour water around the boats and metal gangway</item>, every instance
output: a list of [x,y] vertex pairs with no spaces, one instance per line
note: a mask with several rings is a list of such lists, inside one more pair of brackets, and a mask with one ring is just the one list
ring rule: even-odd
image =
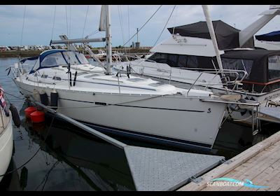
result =
[[[8,71],[5,70],[15,62],[17,58],[0,58],[0,85],[8,93],[23,98],[10,78],[12,73],[6,76]],[[10,95],[7,97],[22,119],[20,128],[13,129],[14,153],[8,170],[21,167],[35,156],[17,172],[5,176],[0,190],[135,190],[123,150],[69,123],[57,119],[52,122],[52,116],[46,116],[45,123],[32,124],[25,119],[27,103]],[[262,125],[262,132],[253,137],[251,127],[225,123],[211,153],[232,158],[277,130],[269,123]],[[186,151],[114,138],[134,146]]]

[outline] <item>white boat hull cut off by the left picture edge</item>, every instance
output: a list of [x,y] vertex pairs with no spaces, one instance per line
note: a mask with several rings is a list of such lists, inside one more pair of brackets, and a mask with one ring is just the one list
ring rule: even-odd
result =
[[13,125],[12,114],[6,109],[3,99],[3,89],[0,87],[0,181],[6,173],[13,155]]

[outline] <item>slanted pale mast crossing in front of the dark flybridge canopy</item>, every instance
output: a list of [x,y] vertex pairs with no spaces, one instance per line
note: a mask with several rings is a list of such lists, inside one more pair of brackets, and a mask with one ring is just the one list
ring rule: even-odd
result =
[[206,22],[207,22],[207,27],[209,29],[209,34],[211,36],[211,40],[213,41],[213,45],[214,45],[214,49],[215,49],[215,52],[216,52],[216,57],[217,57],[217,62],[218,62],[219,69],[220,69],[220,71],[223,71],[223,64],[222,64],[220,52],[218,50],[218,43],[217,43],[217,39],[216,39],[216,36],[215,36],[213,23],[212,23],[211,18],[210,18],[208,6],[207,5],[202,5],[202,9],[203,9],[204,16],[205,16],[205,19],[206,19]]

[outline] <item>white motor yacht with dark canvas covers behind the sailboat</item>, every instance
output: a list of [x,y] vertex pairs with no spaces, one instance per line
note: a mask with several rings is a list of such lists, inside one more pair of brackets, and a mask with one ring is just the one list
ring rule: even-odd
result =
[[[151,57],[121,62],[114,68],[126,71],[128,65],[133,73],[177,87],[196,85],[214,94],[239,94],[243,101],[280,106],[280,50],[255,50],[253,43],[253,34],[279,13],[280,6],[270,6],[262,18],[242,31],[221,20],[213,21],[218,52],[207,22],[168,28],[172,36],[155,45]],[[233,110],[225,117],[253,122],[251,111]]]

